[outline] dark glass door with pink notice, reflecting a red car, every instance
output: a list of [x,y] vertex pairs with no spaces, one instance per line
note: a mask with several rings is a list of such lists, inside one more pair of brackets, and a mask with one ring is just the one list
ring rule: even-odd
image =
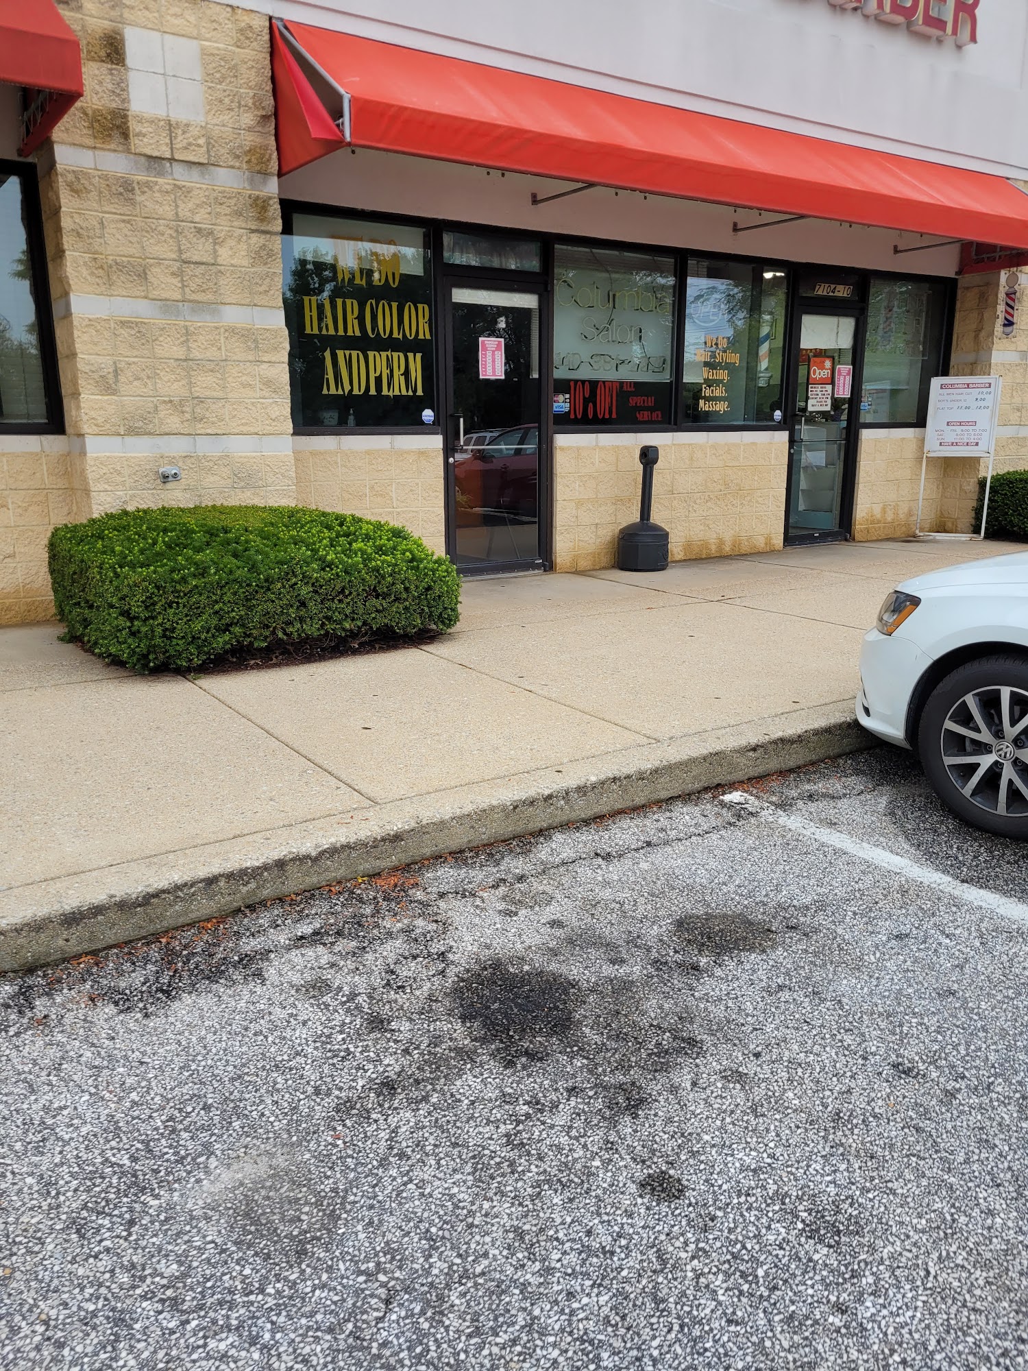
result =
[[450,281],[447,307],[450,555],[465,573],[539,568],[541,296]]

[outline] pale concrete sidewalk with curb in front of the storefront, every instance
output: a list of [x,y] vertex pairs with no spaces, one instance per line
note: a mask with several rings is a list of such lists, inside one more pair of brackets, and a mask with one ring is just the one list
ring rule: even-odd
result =
[[472,581],[429,646],[195,680],[0,629],[0,969],[859,747],[887,591],[1016,550]]

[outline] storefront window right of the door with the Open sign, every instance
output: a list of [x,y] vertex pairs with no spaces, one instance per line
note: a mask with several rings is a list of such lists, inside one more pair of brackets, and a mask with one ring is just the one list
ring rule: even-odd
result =
[[922,424],[942,367],[947,289],[938,281],[872,277],[862,424]]

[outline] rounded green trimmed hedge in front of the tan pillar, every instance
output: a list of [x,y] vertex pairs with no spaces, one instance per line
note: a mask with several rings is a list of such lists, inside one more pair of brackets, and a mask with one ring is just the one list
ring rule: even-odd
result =
[[123,510],[49,537],[67,638],[137,672],[452,628],[456,569],[393,524],[296,506]]

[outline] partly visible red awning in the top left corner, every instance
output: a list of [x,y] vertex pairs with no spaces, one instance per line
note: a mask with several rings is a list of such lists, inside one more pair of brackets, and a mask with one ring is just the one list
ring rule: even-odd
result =
[[0,81],[25,86],[23,158],[82,95],[78,38],[53,0],[0,0]]

